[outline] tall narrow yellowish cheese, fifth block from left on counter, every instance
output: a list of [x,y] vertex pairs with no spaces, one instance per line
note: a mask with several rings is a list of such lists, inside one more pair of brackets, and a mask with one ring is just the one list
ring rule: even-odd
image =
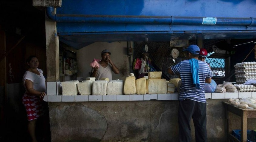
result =
[[124,81],[124,94],[135,94],[136,86],[135,86],[135,76],[129,76],[125,78]]

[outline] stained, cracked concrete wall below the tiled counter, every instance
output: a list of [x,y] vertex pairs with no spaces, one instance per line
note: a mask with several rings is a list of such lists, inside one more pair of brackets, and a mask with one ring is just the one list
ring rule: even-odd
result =
[[[208,142],[226,141],[222,101],[207,99]],[[178,101],[49,102],[52,142],[178,141]],[[232,129],[240,117],[231,115]],[[255,119],[248,129],[255,129]],[[192,142],[195,141],[193,122]],[[253,128],[254,127],[254,128]]]

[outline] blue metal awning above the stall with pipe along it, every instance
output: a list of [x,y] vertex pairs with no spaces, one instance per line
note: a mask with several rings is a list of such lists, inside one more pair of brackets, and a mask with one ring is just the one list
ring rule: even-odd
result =
[[46,14],[60,41],[80,49],[97,41],[256,38],[255,7],[252,0],[63,0]]

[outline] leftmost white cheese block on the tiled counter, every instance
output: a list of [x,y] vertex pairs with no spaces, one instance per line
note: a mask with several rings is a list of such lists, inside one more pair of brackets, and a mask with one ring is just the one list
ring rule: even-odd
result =
[[78,80],[70,80],[61,82],[62,85],[62,95],[77,95],[77,84]]

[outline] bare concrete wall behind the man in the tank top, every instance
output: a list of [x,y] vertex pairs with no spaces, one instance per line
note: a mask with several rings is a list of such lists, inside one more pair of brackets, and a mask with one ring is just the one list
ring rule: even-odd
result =
[[77,77],[90,77],[90,63],[93,59],[101,59],[101,51],[108,49],[111,60],[118,67],[120,73],[113,73],[113,80],[124,80],[129,75],[129,57],[127,42],[96,42],[77,50]]

